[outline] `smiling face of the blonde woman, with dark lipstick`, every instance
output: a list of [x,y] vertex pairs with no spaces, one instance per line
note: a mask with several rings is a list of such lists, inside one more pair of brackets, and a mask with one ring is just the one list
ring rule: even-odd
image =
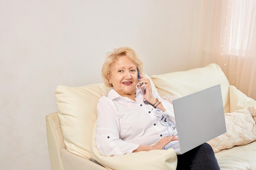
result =
[[135,94],[138,81],[135,63],[126,56],[119,57],[112,66],[109,80],[119,95],[127,97]]

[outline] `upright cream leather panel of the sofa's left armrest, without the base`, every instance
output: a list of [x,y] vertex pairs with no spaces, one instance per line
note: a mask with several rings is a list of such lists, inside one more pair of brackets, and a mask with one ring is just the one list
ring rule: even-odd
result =
[[58,113],[51,113],[45,117],[47,143],[52,170],[64,170],[61,160],[61,148],[66,148],[61,130]]

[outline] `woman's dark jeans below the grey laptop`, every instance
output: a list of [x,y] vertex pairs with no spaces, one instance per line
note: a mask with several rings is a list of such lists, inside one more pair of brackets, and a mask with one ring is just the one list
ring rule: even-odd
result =
[[220,170],[214,152],[207,143],[177,155],[177,158],[177,170]]

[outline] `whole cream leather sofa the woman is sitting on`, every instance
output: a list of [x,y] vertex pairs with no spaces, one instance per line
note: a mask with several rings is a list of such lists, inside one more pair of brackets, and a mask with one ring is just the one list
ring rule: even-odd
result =
[[[249,106],[256,108],[255,100],[229,85],[217,64],[189,71],[152,75],[150,78],[153,88],[162,97],[166,95],[182,97],[220,84],[225,113]],[[58,113],[46,116],[52,170],[175,170],[177,157],[173,149],[137,152],[115,157],[104,157],[99,154],[94,139],[96,106],[98,99],[106,95],[109,90],[103,84],[56,88]],[[253,118],[256,120],[255,117]],[[252,129],[256,132],[255,121],[254,124],[252,122]],[[224,148],[225,142],[223,139]],[[221,150],[216,152],[216,157],[221,170],[256,170],[256,142],[254,140],[244,146]],[[94,163],[94,160],[105,167]]]

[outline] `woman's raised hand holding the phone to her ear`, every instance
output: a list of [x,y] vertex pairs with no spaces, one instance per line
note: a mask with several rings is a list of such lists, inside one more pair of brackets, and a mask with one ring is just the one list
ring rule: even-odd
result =
[[144,78],[143,75],[140,74],[141,79],[139,79],[139,83],[142,84],[141,86],[138,85],[137,87],[142,93],[142,88],[145,87],[145,94],[143,95],[144,99],[148,101],[150,104],[154,104],[156,102],[156,99],[154,98],[152,94],[152,86],[150,83],[150,80],[148,78]]

